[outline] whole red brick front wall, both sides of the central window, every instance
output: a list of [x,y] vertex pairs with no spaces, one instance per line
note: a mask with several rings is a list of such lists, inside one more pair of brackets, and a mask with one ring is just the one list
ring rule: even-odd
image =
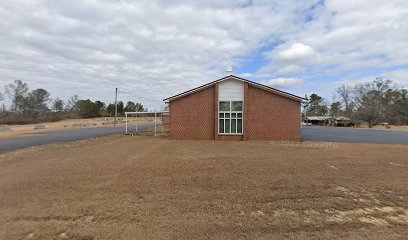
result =
[[170,138],[298,141],[300,102],[244,84],[243,136],[218,134],[217,84],[169,103]]

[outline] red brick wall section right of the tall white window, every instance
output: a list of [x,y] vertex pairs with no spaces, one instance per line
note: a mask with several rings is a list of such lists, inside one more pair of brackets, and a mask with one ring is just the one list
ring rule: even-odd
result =
[[300,140],[300,102],[250,84],[245,90],[246,140]]

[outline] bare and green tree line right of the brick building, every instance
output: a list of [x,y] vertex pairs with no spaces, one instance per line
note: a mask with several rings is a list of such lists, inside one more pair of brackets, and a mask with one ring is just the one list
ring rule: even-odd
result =
[[384,122],[408,125],[408,90],[382,77],[353,86],[342,85],[335,90],[332,101],[311,94],[303,105],[302,114],[303,117],[344,116],[356,122],[367,122],[369,127]]

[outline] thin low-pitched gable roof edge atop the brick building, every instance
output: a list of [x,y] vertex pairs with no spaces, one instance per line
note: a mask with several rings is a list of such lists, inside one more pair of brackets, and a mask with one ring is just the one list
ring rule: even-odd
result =
[[300,102],[306,100],[306,98],[299,97],[299,96],[293,95],[293,94],[291,94],[291,93],[287,93],[287,92],[278,90],[278,89],[273,88],[273,87],[269,87],[269,86],[266,86],[266,85],[263,85],[263,84],[260,84],[260,83],[257,83],[257,82],[250,81],[250,80],[248,80],[248,79],[244,79],[244,78],[240,78],[240,77],[234,76],[234,75],[229,75],[229,76],[220,78],[220,79],[218,79],[218,80],[212,81],[212,82],[210,82],[210,83],[201,85],[201,86],[199,86],[199,87],[190,89],[190,90],[188,90],[188,91],[179,93],[179,94],[174,95],[174,96],[172,96],[172,97],[163,99],[163,101],[169,102],[169,101],[172,101],[172,100],[175,100],[175,99],[178,99],[178,98],[182,98],[182,97],[184,97],[184,96],[187,96],[187,95],[193,94],[193,93],[195,93],[195,92],[201,91],[201,90],[203,90],[203,89],[205,89],[205,88],[209,88],[209,87],[215,85],[216,83],[220,83],[220,82],[223,82],[223,81],[226,81],[226,80],[229,80],[229,79],[233,79],[233,80],[237,80],[237,81],[242,81],[242,82],[247,82],[248,84],[251,84],[251,85],[253,85],[253,86],[255,86],[255,87],[262,88],[262,89],[264,89],[264,90],[267,90],[267,91],[270,91],[270,92],[276,93],[276,94],[278,94],[278,95],[281,95],[281,96],[284,96],[284,97],[287,97],[287,98],[291,98],[291,99],[294,99],[294,100],[297,100],[297,101],[300,101]]

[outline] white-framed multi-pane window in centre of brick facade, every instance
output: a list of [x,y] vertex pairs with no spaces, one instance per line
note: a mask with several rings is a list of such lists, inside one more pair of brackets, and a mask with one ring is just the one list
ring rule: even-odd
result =
[[220,101],[218,133],[242,135],[242,101]]

